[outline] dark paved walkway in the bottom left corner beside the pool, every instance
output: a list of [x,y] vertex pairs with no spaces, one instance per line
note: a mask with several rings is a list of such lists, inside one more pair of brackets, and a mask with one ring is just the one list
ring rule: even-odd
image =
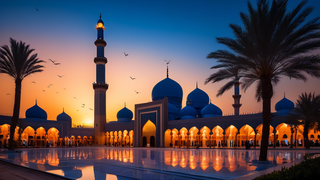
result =
[[66,180],[62,176],[46,173],[0,160],[0,180]]

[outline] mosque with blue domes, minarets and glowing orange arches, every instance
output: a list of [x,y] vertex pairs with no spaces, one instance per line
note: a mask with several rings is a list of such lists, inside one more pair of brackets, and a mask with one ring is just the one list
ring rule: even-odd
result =
[[[222,110],[212,104],[206,92],[196,88],[182,105],[183,89],[169,77],[156,83],[152,89],[152,102],[136,104],[133,112],[124,107],[117,113],[117,121],[106,123],[104,23],[97,22],[96,82],[94,89],[94,128],[74,128],[71,117],[62,111],[56,120],[47,120],[47,113],[35,105],[20,119],[14,139],[32,146],[87,146],[119,147],[243,147],[245,142],[259,146],[262,134],[262,114],[240,115],[239,82],[234,84],[234,115],[223,116]],[[276,103],[272,113],[269,145],[302,146],[303,126],[293,128],[285,123],[285,116],[294,103],[284,97]],[[0,116],[0,145],[7,144],[11,117]],[[309,140],[318,144],[320,132],[309,131]]]

